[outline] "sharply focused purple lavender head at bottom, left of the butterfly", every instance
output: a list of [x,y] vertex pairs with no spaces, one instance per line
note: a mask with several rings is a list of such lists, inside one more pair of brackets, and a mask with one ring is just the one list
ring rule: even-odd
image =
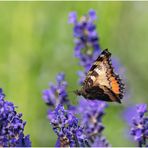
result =
[[78,125],[78,119],[62,105],[48,113],[54,132],[58,135],[57,146],[79,147],[87,144],[86,137]]

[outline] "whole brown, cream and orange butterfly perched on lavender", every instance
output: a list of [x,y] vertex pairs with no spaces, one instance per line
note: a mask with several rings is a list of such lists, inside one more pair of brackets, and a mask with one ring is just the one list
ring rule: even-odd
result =
[[121,103],[123,90],[124,84],[111,63],[111,53],[105,49],[88,71],[81,89],[75,93],[90,100]]

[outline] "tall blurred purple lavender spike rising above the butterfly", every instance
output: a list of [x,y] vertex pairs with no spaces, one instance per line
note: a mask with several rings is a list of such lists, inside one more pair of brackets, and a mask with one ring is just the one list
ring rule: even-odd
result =
[[75,56],[80,59],[79,64],[86,71],[100,52],[99,38],[94,24],[96,18],[96,12],[93,9],[82,16],[80,21],[77,20],[76,12],[69,14],[69,22],[74,24]]

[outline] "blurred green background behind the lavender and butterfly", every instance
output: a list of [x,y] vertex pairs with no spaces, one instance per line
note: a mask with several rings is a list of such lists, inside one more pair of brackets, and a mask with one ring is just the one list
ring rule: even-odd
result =
[[[104,117],[105,136],[113,146],[133,146],[121,118],[129,100],[148,103],[148,2],[0,2],[0,87],[27,121],[33,146],[54,146],[42,91],[64,71],[68,91],[77,89],[80,69],[73,56],[68,13],[93,8],[102,49],[109,48],[126,67],[129,99],[111,104]],[[76,97],[70,93],[72,104]]]

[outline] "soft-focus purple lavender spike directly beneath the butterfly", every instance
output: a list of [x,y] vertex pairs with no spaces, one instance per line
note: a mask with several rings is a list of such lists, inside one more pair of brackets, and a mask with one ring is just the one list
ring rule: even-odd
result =
[[107,104],[103,101],[88,101],[85,99],[79,101],[78,112],[82,119],[81,126],[91,146],[109,146],[107,140],[102,137],[102,131],[104,130],[102,117],[106,107]]

